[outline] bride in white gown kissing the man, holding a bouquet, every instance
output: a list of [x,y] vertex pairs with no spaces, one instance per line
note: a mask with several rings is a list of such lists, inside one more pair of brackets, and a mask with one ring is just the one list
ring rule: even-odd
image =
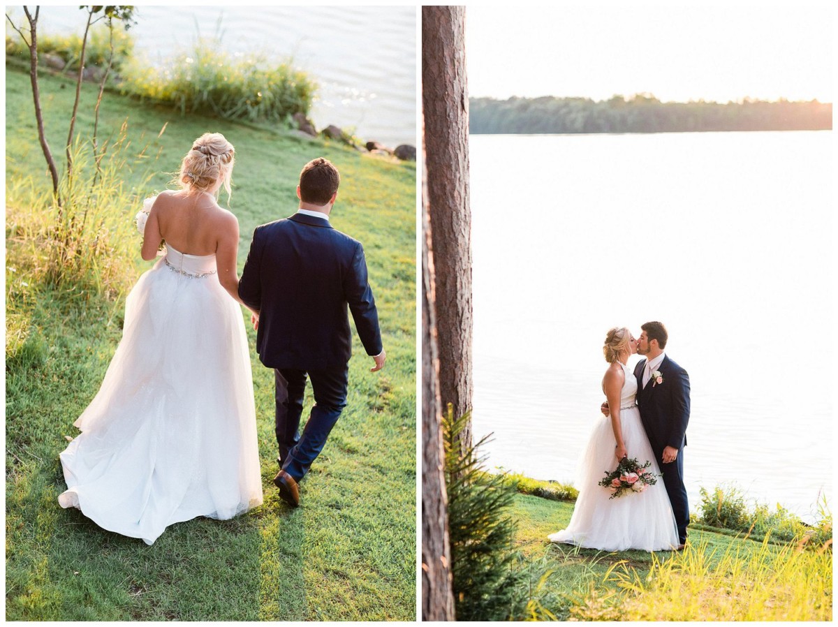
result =
[[649,445],[635,404],[637,379],[626,365],[637,352],[629,329],[608,331],[603,346],[609,366],[603,391],[611,407],[610,418],[600,416],[594,426],[579,469],[579,497],[570,525],[548,536],[551,542],[574,544],[603,551],[670,551],[678,547],[678,532],[662,479],[642,492],[611,498],[608,488],[598,485],[619,460],[636,458],[640,465],[651,461],[650,472],[659,475],[659,460]]

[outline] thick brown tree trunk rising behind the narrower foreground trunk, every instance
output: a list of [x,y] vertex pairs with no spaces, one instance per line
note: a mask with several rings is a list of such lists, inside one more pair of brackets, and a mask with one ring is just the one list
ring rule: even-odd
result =
[[[422,107],[427,203],[436,266],[439,396],[454,416],[472,408],[471,215],[465,8],[422,7]],[[471,426],[460,438],[472,443]]]

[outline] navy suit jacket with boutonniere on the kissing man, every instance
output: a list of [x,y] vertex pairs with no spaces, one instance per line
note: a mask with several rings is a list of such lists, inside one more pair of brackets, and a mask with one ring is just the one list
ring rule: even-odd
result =
[[652,449],[660,453],[665,447],[686,446],[686,425],[690,422],[690,377],[686,371],[665,355],[657,370],[663,382],[654,381],[643,387],[643,371],[646,360],[639,360],[634,366],[637,378],[637,404],[640,420],[649,436]]

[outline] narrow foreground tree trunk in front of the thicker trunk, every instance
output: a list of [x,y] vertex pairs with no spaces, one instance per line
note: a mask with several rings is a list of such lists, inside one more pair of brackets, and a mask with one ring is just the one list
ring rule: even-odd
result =
[[422,236],[422,620],[454,620],[427,175],[422,177]]

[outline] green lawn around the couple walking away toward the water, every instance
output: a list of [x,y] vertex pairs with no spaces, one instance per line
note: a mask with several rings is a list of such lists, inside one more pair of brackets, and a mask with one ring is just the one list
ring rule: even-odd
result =
[[[223,132],[235,145],[230,210],[241,227],[240,272],[254,227],[296,210],[303,164],[333,161],[342,183],[332,221],[365,246],[388,358],[384,371],[370,373],[372,360],[355,337],[348,407],[301,485],[302,506],[292,510],[272,485],[273,376],[247,324],[265,502],[231,521],[178,523],[147,547],[58,505],[65,490],[58,454],[65,436],[78,433],[72,423],[116,349],[125,294],[72,294],[35,278],[39,251],[24,227],[36,216],[24,182],[47,189],[49,174],[28,75],[8,70],[6,81],[6,619],[415,619],[415,163],[105,95],[100,137],[127,119],[135,153],[148,147],[125,171],[128,188],[155,173],[143,195],[166,188],[203,132]],[[43,76],[41,91],[60,167],[75,89]],[[76,122],[83,135],[95,98],[96,86],[84,85]],[[125,207],[125,220],[138,209]],[[139,245],[137,236],[132,281],[151,266]],[[306,412],[311,403],[309,389]]]

